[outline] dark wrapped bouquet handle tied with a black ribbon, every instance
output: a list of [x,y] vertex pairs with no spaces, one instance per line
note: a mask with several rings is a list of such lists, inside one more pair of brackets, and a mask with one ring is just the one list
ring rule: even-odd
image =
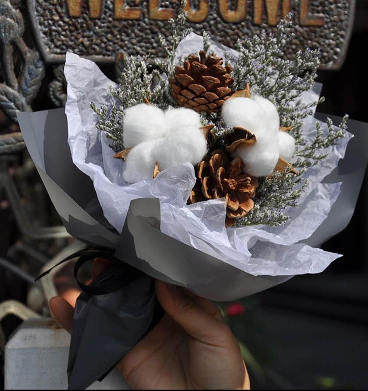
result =
[[[74,258],[78,258],[74,265],[74,277],[82,293],[77,299],[73,317],[68,361],[69,390],[85,389],[93,381],[103,380],[164,314],[155,298],[153,279],[104,248],[91,247],[77,251],[46,270],[37,280]],[[89,285],[85,285],[78,280],[78,271],[86,262],[96,258],[110,261],[111,264]],[[105,306],[99,300],[94,300],[95,295],[109,295],[103,299],[105,304],[109,304]],[[102,329],[105,332],[101,333]],[[120,349],[121,355],[116,354]],[[97,357],[102,360],[103,370],[95,367]],[[98,375],[95,374],[96,369]]]

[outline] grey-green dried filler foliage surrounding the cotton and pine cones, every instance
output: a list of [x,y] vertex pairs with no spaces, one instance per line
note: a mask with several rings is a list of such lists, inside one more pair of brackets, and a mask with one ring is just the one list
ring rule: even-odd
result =
[[[298,199],[307,186],[307,181],[303,179],[305,171],[325,158],[328,148],[336,145],[345,135],[347,116],[337,127],[328,119],[326,132],[317,122],[312,141],[307,141],[302,134],[304,119],[313,115],[312,108],[323,100],[321,98],[319,101],[304,104],[300,99],[303,92],[314,86],[320,64],[320,50],[299,51],[293,60],[285,60],[284,51],[294,39],[293,24],[290,20],[290,16],[282,20],[276,33],[262,32],[252,40],[238,40],[237,50],[240,55],[234,66],[233,76],[235,89],[244,89],[246,83],[250,83],[252,93],[259,94],[276,105],[281,126],[292,126],[291,134],[296,140],[292,163],[298,168],[298,175],[285,171],[259,178],[259,187],[254,198],[255,207],[245,217],[237,219],[235,226],[284,224],[289,219],[285,209],[298,205]],[[101,108],[92,103],[92,109],[99,117],[96,126],[111,138],[111,146],[115,152],[124,147],[124,109],[144,102],[145,98],[161,108],[176,106],[167,81],[173,76],[175,50],[181,40],[191,32],[184,28],[184,22],[185,13],[182,8],[177,19],[169,22],[170,36],[160,37],[166,56],[163,60],[156,60],[161,74],[157,71],[150,73],[146,59],[128,57],[124,60],[119,87],[111,90],[114,102]],[[209,45],[210,37],[204,32],[205,51]],[[231,58],[227,57],[226,61],[231,61]],[[203,114],[201,120],[204,125],[209,122],[215,124],[212,134],[220,146],[224,137],[233,131],[232,128],[226,127],[219,114]]]

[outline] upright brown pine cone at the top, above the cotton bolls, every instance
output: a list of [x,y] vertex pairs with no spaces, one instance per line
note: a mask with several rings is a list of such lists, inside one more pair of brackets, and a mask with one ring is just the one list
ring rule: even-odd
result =
[[197,112],[213,112],[234,92],[230,86],[232,66],[223,66],[223,59],[201,50],[199,56],[191,54],[183,66],[175,67],[175,79],[170,80],[172,95],[179,106]]

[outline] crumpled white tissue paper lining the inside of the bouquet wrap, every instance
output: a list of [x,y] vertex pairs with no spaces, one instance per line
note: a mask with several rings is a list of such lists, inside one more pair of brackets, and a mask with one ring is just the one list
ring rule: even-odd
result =
[[[220,56],[234,50],[212,43]],[[177,58],[203,47],[202,37],[190,34],[180,43]],[[190,163],[162,171],[155,179],[127,185],[122,177],[123,162],[113,159],[109,140],[95,127],[96,115],[90,108],[109,103],[113,82],[97,65],[68,53],[65,75],[68,81],[66,114],[69,146],[75,165],[93,181],[94,188],[107,220],[120,232],[129,203],[139,197],[157,197],[161,203],[161,231],[171,237],[205,251],[253,276],[292,276],[322,272],[339,254],[313,248],[301,241],[309,238],[322,224],[340,191],[340,183],[321,183],[322,179],[344,157],[351,134],[337,146],[330,147],[328,157],[305,174],[309,180],[298,208],[286,212],[292,218],[280,227],[245,226],[225,228],[224,200],[209,200],[186,205],[195,184],[194,168]],[[302,99],[318,98],[320,86],[303,94]],[[315,133],[313,117],[307,118],[303,133]],[[326,125],[324,125],[324,129]],[[322,126],[323,129],[323,126]]]

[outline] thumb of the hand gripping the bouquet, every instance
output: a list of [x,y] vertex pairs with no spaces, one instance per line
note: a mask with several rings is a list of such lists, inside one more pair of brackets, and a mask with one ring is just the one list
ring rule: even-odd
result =
[[193,338],[211,345],[228,343],[229,327],[198,305],[185,288],[157,280],[156,296],[165,312]]

